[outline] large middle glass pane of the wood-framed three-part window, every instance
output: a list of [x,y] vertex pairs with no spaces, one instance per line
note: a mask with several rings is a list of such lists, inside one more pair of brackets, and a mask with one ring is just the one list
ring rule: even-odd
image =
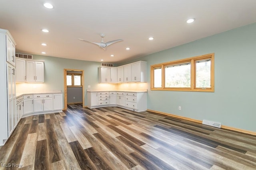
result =
[[166,88],[191,87],[191,63],[165,67]]

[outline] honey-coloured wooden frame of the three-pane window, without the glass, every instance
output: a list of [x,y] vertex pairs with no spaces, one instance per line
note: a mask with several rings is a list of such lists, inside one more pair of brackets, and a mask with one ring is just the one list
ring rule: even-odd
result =
[[[210,88],[196,88],[196,61],[211,60],[211,87]],[[183,63],[191,63],[191,87],[190,88],[166,88],[165,86],[165,67],[170,65],[178,65]],[[166,90],[166,91],[192,91],[192,92],[214,92],[214,53],[200,55],[196,57],[190,57],[187,59],[181,59],[177,61],[170,61],[166,63],[154,64],[150,66],[150,89],[151,90]],[[162,69],[162,87],[154,88],[154,69]]]

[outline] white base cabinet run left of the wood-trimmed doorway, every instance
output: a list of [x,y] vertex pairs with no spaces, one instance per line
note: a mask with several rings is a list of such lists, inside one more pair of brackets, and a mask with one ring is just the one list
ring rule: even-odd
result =
[[62,93],[26,94],[23,98],[23,117],[61,112],[63,109]]

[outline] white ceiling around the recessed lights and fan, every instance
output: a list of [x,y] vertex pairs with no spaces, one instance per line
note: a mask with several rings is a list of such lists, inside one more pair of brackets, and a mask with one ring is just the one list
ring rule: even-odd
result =
[[[50,2],[54,9],[42,4]],[[186,23],[195,18],[194,23]],[[118,63],[256,22],[256,0],[0,0],[16,53]],[[43,33],[41,29],[49,29]],[[106,51],[88,41],[124,39]],[[148,37],[155,39],[149,41]],[[44,47],[41,43],[46,43]],[[130,47],[130,51],[126,50]],[[113,54],[114,57],[110,57]]]

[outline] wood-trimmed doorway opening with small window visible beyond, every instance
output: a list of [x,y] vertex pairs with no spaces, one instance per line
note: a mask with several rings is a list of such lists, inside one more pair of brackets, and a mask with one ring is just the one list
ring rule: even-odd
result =
[[64,69],[64,109],[68,104],[84,106],[84,70]]

